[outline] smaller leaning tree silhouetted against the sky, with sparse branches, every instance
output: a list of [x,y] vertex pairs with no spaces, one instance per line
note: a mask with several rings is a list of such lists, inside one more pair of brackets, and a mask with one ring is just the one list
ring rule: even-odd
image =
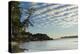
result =
[[26,28],[28,29],[29,25],[33,26],[33,24],[30,21],[30,17],[32,16],[32,14],[35,12],[35,8],[29,8],[26,12],[26,14],[28,15],[28,17],[22,22],[22,24],[24,25],[24,31],[26,32]]

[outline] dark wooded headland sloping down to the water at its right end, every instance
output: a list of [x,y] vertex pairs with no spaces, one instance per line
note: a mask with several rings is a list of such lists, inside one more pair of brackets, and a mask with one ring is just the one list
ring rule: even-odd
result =
[[36,33],[32,34],[30,32],[23,32],[20,36],[12,38],[12,41],[29,42],[29,41],[43,41],[43,40],[53,40],[47,34]]

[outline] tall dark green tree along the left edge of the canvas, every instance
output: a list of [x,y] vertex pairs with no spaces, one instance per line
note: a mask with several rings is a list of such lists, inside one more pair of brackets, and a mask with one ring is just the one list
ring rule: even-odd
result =
[[[12,34],[18,34],[19,30],[21,29],[22,25],[20,22],[20,2],[11,1],[10,2],[10,12],[11,12],[11,32]],[[15,36],[15,35],[14,35]]]

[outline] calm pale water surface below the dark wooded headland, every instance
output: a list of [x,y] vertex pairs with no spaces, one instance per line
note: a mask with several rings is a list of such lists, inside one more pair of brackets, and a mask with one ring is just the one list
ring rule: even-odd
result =
[[67,39],[49,40],[49,41],[31,41],[21,44],[20,48],[28,49],[25,50],[27,52],[77,49],[78,39],[67,38]]

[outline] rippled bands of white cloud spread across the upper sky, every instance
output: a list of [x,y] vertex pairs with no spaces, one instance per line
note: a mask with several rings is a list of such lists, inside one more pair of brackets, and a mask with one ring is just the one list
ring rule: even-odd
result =
[[52,24],[68,28],[77,24],[78,7],[76,5],[32,3],[32,7],[37,9],[31,18],[37,26],[47,27],[48,24]]

